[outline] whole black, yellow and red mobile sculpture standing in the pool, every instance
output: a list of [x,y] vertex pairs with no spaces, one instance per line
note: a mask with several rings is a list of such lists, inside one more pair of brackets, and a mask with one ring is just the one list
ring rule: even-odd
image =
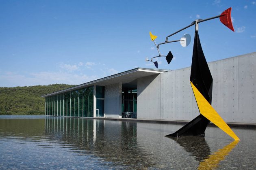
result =
[[[195,25],[195,38],[192,55],[190,83],[197,102],[197,106],[200,111],[200,115],[195,117],[192,121],[184,125],[178,131],[167,136],[204,136],[204,132],[208,124],[213,122],[217,127],[226,132],[234,140],[239,140],[236,134],[230,129],[226,122],[219,116],[215,109],[211,106],[212,102],[212,91],[213,91],[213,77],[210,73],[210,69],[206,62],[204,52],[199,39],[198,34],[198,23],[208,21],[211,19],[219,18],[221,23],[227,26],[230,30],[234,31],[231,21],[231,9],[226,9],[221,15],[211,17],[208,19],[197,19],[193,21],[189,26],[184,27],[173,34],[170,34],[165,38],[165,43],[168,43],[168,38]],[[153,37],[153,41],[156,36]],[[163,43],[162,43],[163,44]],[[159,52],[159,51],[158,51]],[[161,55],[159,53],[159,55]],[[154,58],[154,57],[153,57]],[[152,58],[152,59],[153,59]],[[151,60],[152,60],[151,59]],[[169,62],[168,62],[169,64]]]

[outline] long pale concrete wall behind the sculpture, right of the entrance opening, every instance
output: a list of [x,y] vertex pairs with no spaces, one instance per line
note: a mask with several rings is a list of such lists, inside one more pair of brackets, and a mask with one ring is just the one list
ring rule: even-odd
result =
[[[256,123],[256,52],[208,63],[212,106],[226,122]],[[191,68],[138,79],[137,118],[190,121],[199,115]]]

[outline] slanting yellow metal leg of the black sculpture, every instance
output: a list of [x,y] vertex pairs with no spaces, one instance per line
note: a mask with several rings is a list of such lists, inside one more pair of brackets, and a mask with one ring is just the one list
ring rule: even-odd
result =
[[227,123],[220,117],[220,115],[214,110],[214,108],[209,104],[209,102],[204,98],[204,96],[198,91],[198,89],[193,85],[191,86],[195,95],[195,100],[199,108],[200,113],[206,117],[209,121],[213,122],[221,130],[226,132],[229,136],[234,138],[234,140],[239,140],[236,134],[230,129]]

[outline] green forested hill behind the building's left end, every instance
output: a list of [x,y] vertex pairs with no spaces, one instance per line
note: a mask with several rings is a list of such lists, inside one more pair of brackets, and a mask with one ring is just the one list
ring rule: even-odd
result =
[[0,87],[0,115],[44,115],[45,94],[74,85],[53,84],[25,87]]

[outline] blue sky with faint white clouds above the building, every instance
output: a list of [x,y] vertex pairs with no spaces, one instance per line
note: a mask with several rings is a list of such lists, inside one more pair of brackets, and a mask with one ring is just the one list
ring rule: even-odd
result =
[[[137,67],[154,68],[146,57],[158,55],[156,43],[195,19],[232,7],[235,32],[219,19],[199,24],[208,62],[256,51],[255,0],[0,0],[0,87],[81,84]],[[175,70],[191,65],[195,27],[169,40],[191,35],[191,44],[160,46],[171,51]]]

